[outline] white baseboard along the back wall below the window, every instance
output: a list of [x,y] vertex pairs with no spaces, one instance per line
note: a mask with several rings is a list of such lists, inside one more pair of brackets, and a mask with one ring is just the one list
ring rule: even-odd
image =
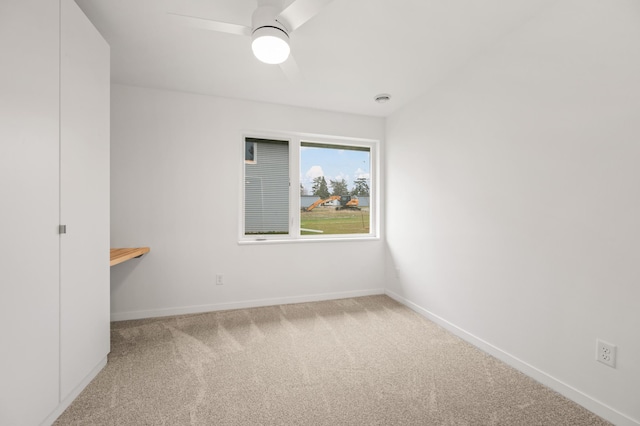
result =
[[239,302],[217,303],[213,305],[181,306],[146,311],[112,312],[111,321],[128,321],[143,318],[168,317],[174,315],[200,314],[203,312],[228,311],[230,309],[258,308],[261,306],[288,305],[292,303],[319,302],[323,300],[346,299],[349,297],[373,296],[384,294],[384,289],[368,289],[345,291],[338,293],[310,294],[294,297],[277,297],[272,299],[246,300]]

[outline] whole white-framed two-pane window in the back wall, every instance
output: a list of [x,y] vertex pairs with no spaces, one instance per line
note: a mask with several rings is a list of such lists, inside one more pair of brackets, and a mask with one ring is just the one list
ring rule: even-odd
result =
[[377,235],[376,142],[318,139],[244,138],[241,241]]

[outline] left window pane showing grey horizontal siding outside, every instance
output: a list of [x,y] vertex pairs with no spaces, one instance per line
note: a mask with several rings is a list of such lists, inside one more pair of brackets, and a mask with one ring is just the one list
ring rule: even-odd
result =
[[[246,146],[251,144],[253,161],[247,161]],[[258,152],[260,161],[255,161]],[[289,233],[288,142],[245,140],[244,215],[245,235]]]

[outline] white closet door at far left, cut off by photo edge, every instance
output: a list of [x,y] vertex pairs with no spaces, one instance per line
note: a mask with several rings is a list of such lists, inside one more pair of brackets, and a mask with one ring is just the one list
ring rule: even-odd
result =
[[0,424],[58,405],[58,2],[0,1]]

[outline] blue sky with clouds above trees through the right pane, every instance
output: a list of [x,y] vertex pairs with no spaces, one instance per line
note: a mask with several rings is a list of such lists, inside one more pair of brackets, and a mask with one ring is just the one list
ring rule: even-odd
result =
[[[329,180],[344,179],[349,190],[353,189],[353,181],[370,177],[370,153],[350,149],[300,147],[300,182],[306,193],[311,194],[313,179],[324,176]],[[331,187],[329,186],[329,190]]]

